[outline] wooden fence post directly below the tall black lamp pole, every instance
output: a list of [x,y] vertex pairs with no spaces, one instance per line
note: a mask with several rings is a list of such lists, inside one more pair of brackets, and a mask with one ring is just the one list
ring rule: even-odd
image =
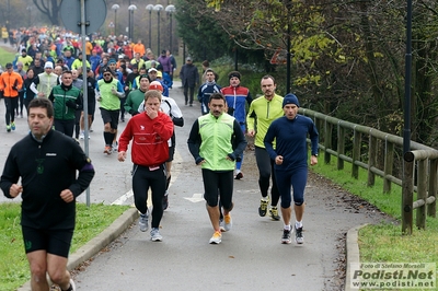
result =
[[412,217],[414,202],[414,154],[406,152],[403,161],[402,181],[402,234],[412,234]]

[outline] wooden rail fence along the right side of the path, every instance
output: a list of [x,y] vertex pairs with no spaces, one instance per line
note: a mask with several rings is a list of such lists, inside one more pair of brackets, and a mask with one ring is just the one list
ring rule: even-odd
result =
[[[332,155],[337,156],[337,170],[344,170],[344,162],[348,162],[354,178],[358,178],[359,167],[367,170],[368,186],[374,185],[376,175],[382,177],[383,194],[391,190],[392,184],[402,186],[402,233],[412,233],[414,209],[417,211],[417,228],[426,226],[426,213],[436,217],[437,150],[411,141],[411,151],[403,155],[402,137],[311,109],[300,108],[299,113],[309,116],[315,123],[325,163],[330,163]],[[384,159],[381,168],[377,163],[379,146],[380,149],[384,149],[380,154]],[[393,175],[394,165],[403,166],[399,176]],[[414,191],[417,193],[416,201],[413,200]]]

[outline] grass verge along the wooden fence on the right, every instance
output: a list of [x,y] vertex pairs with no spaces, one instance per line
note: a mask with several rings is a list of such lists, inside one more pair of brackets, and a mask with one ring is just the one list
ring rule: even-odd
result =
[[[359,178],[355,179],[349,173],[346,174],[349,164],[346,164],[344,171],[337,171],[336,162],[336,158],[332,156],[330,164],[321,161],[312,170],[353,195],[374,205],[397,221],[401,220],[402,188],[400,186],[393,184],[391,193],[383,194],[382,178],[376,177],[376,185],[368,187],[367,171],[360,170]],[[401,224],[381,222],[377,225],[367,225],[359,231],[360,261],[438,263],[437,242],[438,219],[434,218],[427,218],[426,230],[415,229],[412,235],[402,235]]]

